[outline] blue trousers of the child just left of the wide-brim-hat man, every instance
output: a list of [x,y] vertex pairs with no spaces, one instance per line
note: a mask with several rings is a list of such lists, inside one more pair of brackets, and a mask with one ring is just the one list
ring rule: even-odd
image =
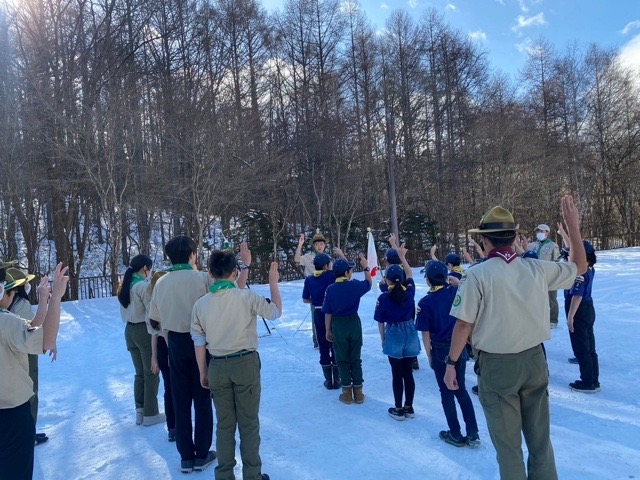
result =
[[464,374],[467,369],[467,351],[462,349],[460,360],[456,366],[456,380],[458,380],[458,390],[449,390],[444,383],[444,374],[447,369],[444,363],[444,357],[449,355],[451,348],[450,342],[434,342],[431,341],[431,364],[436,374],[436,381],[440,388],[440,400],[444,416],[447,418],[447,425],[453,436],[461,436],[460,422],[458,421],[458,413],[456,411],[456,402],[460,405],[462,418],[464,419],[467,435],[470,433],[478,433],[478,423],[476,422],[476,413],[473,409],[473,403],[469,397],[469,392],[464,384]]

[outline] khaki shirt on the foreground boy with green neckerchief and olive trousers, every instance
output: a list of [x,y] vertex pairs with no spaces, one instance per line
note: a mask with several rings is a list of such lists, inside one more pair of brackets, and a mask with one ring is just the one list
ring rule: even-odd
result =
[[208,293],[193,306],[191,336],[194,344],[204,345],[204,337],[207,350],[216,357],[256,350],[257,315],[273,320],[280,312],[273,303],[248,288]]

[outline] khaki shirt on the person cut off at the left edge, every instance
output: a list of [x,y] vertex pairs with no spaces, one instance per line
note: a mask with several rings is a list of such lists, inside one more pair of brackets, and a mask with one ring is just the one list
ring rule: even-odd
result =
[[15,408],[33,396],[27,354],[42,354],[42,328],[29,330],[29,322],[0,312],[0,409]]

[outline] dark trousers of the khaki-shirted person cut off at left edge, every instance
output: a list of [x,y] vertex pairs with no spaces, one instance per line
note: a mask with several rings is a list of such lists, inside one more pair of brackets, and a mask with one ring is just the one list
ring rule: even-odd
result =
[[0,409],[0,480],[31,480],[36,424],[29,402]]

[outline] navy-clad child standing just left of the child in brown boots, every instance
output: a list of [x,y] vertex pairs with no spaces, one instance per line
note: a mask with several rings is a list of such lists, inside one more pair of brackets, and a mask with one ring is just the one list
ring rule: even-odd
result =
[[333,351],[333,343],[327,340],[322,302],[329,285],[333,285],[336,276],[331,269],[331,257],[326,253],[318,253],[313,259],[315,272],[304,279],[302,301],[313,307],[313,323],[318,333],[320,366],[324,375],[324,386],[328,390],[340,388],[340,375]]

